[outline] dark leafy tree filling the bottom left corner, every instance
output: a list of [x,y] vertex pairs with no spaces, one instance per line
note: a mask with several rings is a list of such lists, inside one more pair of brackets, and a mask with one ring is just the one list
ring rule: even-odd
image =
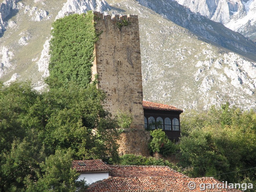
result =
[[10,151],[1,152],[2,191],[25,191],[28,180],[36,181],[40,173],[40,162],[45,154],[36,132],[27,132],[20,141],[14,140]]

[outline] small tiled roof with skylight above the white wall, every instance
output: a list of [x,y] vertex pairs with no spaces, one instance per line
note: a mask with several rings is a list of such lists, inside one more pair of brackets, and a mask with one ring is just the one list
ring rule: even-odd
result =
[[[79,165],[81,163],[84,163],[85,165]],[[76,169],[77,172],[97,172],[111,170],[111,168],[102,162],[101,159],[72,161],[72,168]]]

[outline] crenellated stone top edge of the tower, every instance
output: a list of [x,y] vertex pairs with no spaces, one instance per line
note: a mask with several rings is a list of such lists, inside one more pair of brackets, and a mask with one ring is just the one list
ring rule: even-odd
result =
[[95,18],[94,20],[97,19],[103,19],[103,20],[116,20],[116,21],[121,21],[121,20],[125,20],[125,21],[130,21],[131,23],[133,22],[138,22],[138,15],[122,15],[119,17],[119,15],[112,15],[112,17],[110,15],[103,15],[103,13],[100,12],[93,12]]

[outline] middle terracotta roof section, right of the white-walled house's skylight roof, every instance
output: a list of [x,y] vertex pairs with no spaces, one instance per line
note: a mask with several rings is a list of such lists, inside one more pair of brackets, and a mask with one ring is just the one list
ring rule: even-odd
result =
[[112,177],[172,177],[187,178],[186,175],[170,169],[168,166],[108,165]]

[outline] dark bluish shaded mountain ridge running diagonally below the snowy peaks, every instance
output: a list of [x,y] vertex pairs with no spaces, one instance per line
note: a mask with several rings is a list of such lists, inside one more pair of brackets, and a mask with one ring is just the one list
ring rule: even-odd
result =
[[138,0],[138,2],[206,40],[256,61],[256,43],[220,23],[195,14],[174,1]]

